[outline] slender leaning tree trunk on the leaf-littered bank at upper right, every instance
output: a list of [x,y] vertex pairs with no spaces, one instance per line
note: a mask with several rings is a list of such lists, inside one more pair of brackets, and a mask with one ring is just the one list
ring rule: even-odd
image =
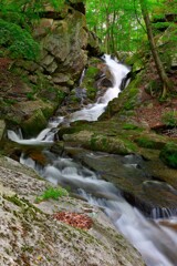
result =
[[155,41],[154,41],[154,35],[153,35],[153,30],[152,30],[152,24],[150,24],[150,19],[149,19],[148,10],[147,10],[147,7],[146,7],[146,2],[145,2],[145,0],[139,0],[139,2],[140,2],[142,14],[143,14],[143,18],[144,18],[144,21],[145,21],[145,24],[146,24],[146,30],[147,30],[147,35],[148,35],[148,41],[149,41],[153,59],[155,61],[155,65],[156,65],[158,75],[159,75],[159,78],[162,80],[162,83],[163,83],[162,96],[165,98],[167,91],[173,91],[173,83],[168,79],[168,76],[165,72],[164,65],[163,65],[163,63],[160,61],[160,58],[158,55],[158,52],[157,52],[157,48],[156,48],[156,44],[155,44]]

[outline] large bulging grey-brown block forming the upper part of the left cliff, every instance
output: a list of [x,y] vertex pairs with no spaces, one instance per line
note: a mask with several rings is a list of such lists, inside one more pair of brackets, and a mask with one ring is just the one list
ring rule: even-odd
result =
[[[41,32],[43,23],[37,32]],[[85,16],[79,11],[73,10],[63,20],[49,19],[48,31],[41,39],[43,47],[43,54],[45,57],[40,62],[41,66],[51,73],[72,73],[73,80],[77,79],[87,62],[86,45],[87,45],[87,31]],[[46,54],[48,53],[48,54]],[[49,64],[55,64],[58,68],[49,69]]]

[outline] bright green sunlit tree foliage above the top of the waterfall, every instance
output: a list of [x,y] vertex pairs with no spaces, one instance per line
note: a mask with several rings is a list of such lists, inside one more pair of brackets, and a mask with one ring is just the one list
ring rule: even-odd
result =
[[[176,13],[177,6],[174,2],[144,1],[152,20],[156,17],[154,20],[156,23],[153,24],[154,31],[158,32],[162,27],[175,24],[175,21],[167,21],[165,17],[165,14]],[[136,52],[147,41],[139,0],[90,0],[86,2],[86,10],[88,28],[100,37],[105,52]]]

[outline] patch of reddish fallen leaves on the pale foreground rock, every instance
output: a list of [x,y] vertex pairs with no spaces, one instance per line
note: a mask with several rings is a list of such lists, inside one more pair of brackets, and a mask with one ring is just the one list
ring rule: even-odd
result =
[[90,216],[85,214],[70,213],[70,212],[59,212],[53,214],[53,218],[70,224],[73,227],[90,229],[92,227],[93,221]]

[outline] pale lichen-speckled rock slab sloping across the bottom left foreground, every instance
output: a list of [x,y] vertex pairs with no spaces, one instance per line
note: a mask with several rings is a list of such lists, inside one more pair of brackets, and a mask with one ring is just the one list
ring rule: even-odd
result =
[[[34,204],[49,183],[17,162],[0,157],[0,165],[1,265],[145,265],[97,207],[71,197]],[[88,231],[53,218],[60,211],[84,209],[93,219]]]

